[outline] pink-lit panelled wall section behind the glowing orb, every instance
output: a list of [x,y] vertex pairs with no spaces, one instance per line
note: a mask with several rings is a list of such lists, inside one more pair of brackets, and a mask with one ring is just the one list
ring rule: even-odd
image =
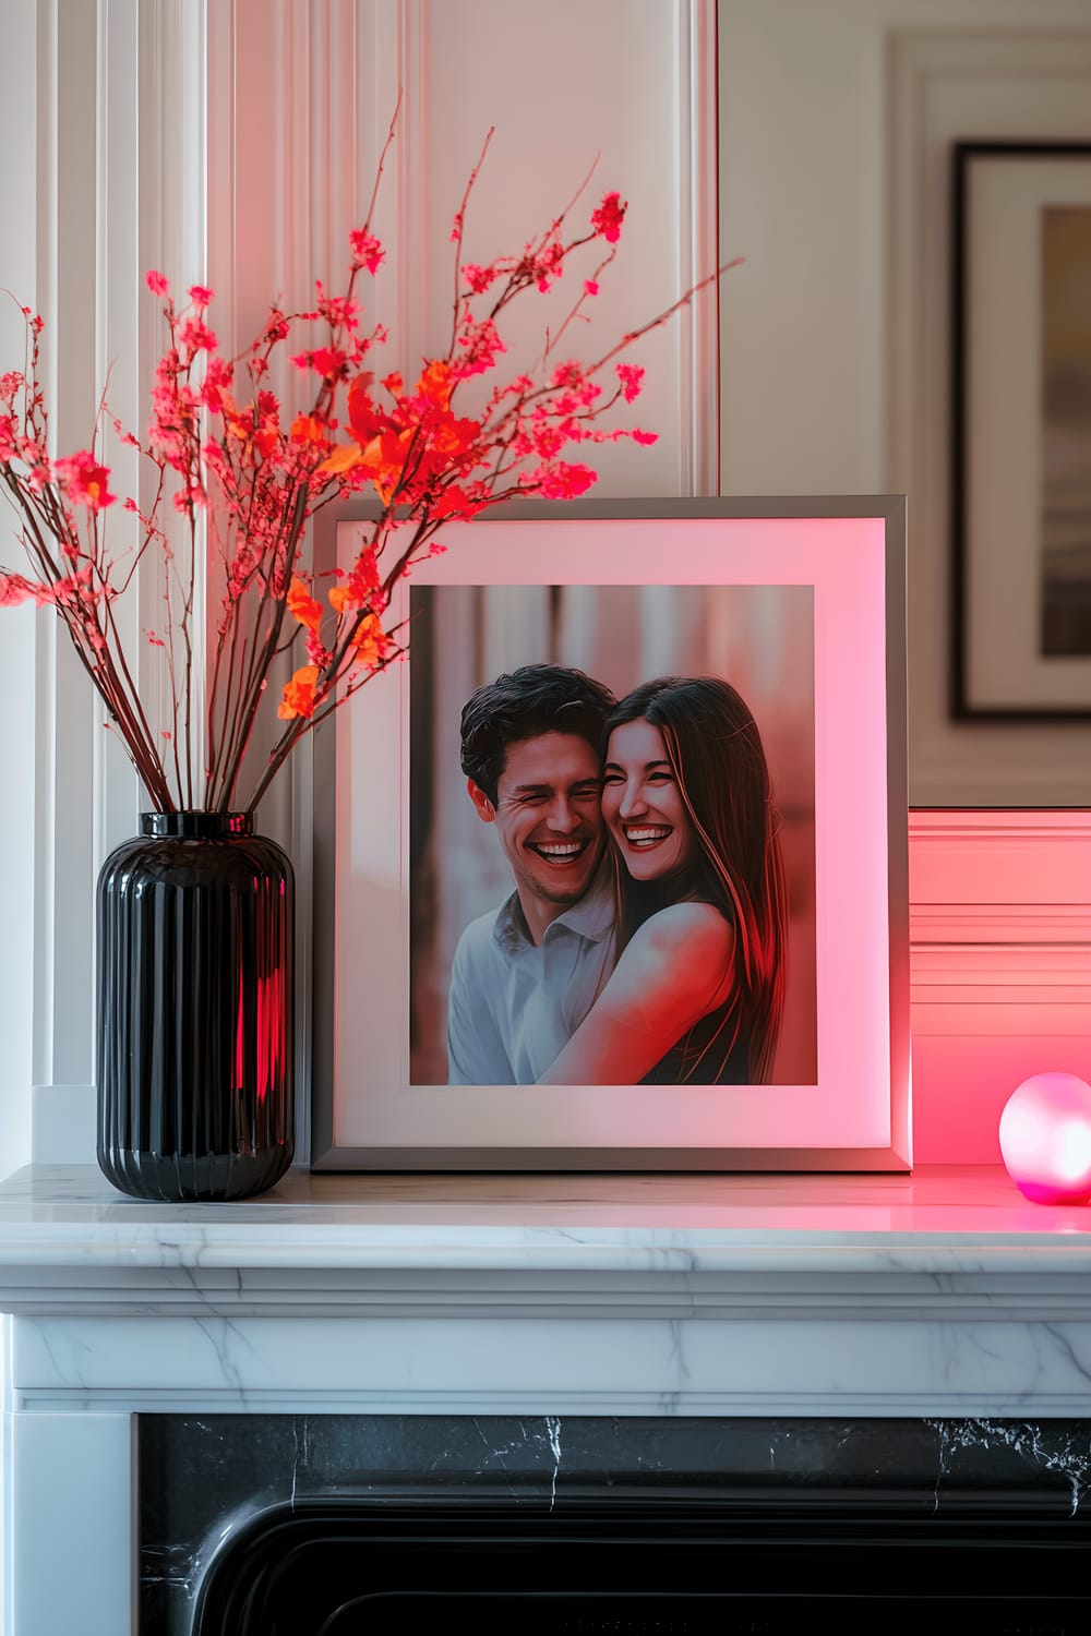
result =
[[1086,810],[909,813],[918,1165],[998,1165],[1022,1081],[1091,1080],[1089,918]]

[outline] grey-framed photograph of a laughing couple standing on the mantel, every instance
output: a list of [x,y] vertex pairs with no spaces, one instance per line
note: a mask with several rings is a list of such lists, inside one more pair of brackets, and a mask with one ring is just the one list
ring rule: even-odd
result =
[[443,543],[314,735],[312,1168],[909,1170],[905,501]]

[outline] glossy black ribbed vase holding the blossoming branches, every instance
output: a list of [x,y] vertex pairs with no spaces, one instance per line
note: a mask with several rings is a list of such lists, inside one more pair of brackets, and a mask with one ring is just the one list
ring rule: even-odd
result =
[[98,877],[98,1163],[244,1199],[293,1152],[293,874],[245,813],[144,813]]

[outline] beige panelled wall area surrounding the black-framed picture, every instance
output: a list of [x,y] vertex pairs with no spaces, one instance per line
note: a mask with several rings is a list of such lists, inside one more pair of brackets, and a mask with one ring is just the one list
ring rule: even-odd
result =
[[949,155],[1091,139],[1091,0],[720,0],[721,473],[909,497],[909,800],[1091,805],[1091,726],[952,723]]

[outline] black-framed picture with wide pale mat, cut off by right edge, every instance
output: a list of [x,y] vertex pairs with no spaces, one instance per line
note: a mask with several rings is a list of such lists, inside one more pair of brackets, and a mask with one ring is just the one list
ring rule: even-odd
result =
[[1091,345],[1068,317],[1088,280],[1091,142],[957,142],[954,720],[1091,720]]

